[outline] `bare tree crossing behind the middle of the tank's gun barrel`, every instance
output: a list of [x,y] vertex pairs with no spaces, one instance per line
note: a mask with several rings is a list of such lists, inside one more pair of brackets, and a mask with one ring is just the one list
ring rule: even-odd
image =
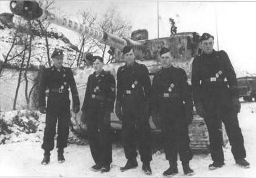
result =
[[[89,27],[97,28],[98,30],[110,32],[120,37],[129,37],[131,33],[131,22],[122,18],[116,8],[108,9],[102,16],[93,14],[89,10],[81,13],[82,24]],[[80,37],[80,53],[77,57],[77,67],[80,66],[83,53],[93,53],[101,55],[105,60],[112,61],[111,55],[106,55],[109,47],[98,42],[88,36],[81,35]]]

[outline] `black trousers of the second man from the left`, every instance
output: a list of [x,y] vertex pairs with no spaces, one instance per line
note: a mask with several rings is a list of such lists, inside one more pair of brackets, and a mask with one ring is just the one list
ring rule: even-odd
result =
[[86,127],[90,152],[96,164],[112,163],[112,143],[110,122],[104,123],[105,109],[95,106],[86,111]]

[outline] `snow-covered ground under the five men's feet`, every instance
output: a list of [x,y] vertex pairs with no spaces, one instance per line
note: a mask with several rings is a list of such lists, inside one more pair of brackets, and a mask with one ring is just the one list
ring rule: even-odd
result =
[[[214,171],[209,171],[208,165],[212,163],[210,155],[195,155],[191,161],[191,168],[196,175],[193,177],[255,177],[256,176],[256,102],[242,103],[241,113],[239,114],[240,127],[245,139],[247,160],[250,162],[249,169],[238,167],[230,151],[230,145],[224,148],[225,166]],[[254,120],[255,119],[255,120]],[[119,167],[126,162],[122,147],[113,145],[112,169],[108,173],[92,172],[89,168],[94,164],[90,155],[89,146],[77,146],[69,144],[64,150],[66,162],[57,163],[56,149],[51,153],[51,163],[47,166],[41,165],[43,150],[39,142],[18,142],[0,145],[0,177],[1,176],[76,176],[76,177],[150,177],[144,175],[141,170],[142,163],[137,169],[120,172]],[[139,161],[139,156],[138,156]],[[180,162],[179,174],[174,177],[184,177]],[[156,152],[151,162],[152,176],[162,177],[162,172],[168,168],[165,155]]]

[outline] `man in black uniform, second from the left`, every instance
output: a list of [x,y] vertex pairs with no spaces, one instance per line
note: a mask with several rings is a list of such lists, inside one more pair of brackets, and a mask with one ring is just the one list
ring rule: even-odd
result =
[[115,101],[115,79],[105,72],[103,59],[93,56],[95,72],[88,78],[82,112],[85,115],[90,152],[94,162],[92,171],[109,172],[112,163],[110,113]]

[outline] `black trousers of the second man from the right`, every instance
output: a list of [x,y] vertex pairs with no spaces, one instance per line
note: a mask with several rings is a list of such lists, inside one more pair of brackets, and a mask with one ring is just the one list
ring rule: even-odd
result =
[[188,163],[193,155],[189,147],[190,139],[185,118],[174,117],[171,113],[160,114],[160,122],[166,159],[176,164],[179,153],[181,162]]

